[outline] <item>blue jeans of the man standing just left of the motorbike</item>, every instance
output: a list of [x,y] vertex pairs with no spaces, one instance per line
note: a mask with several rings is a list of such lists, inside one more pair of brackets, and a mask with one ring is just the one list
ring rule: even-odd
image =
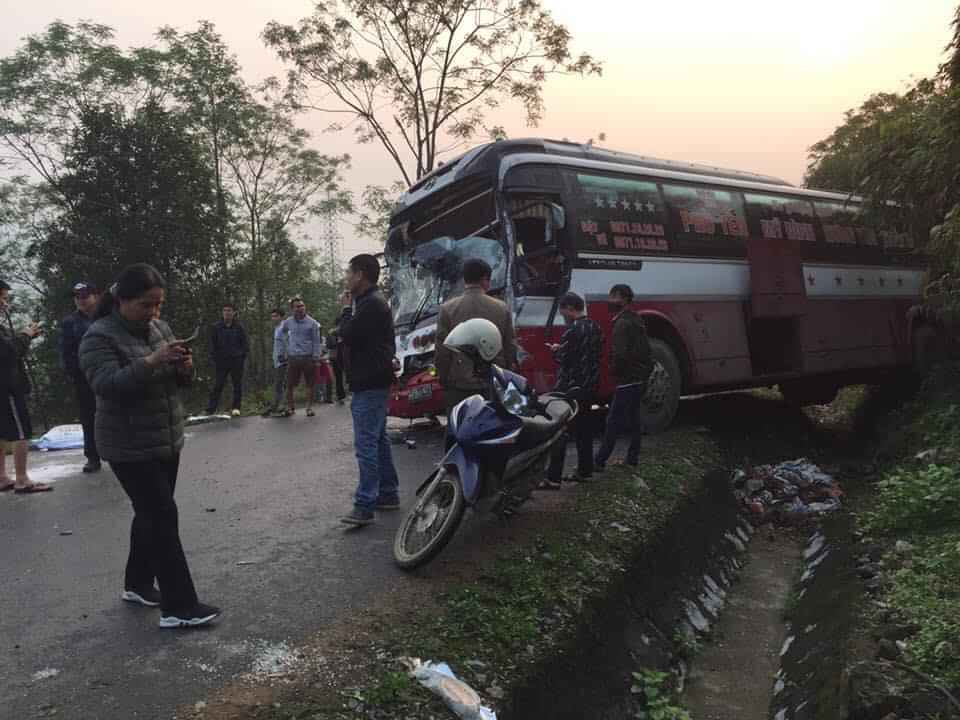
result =
[[393,453],[387,438],[387,398],[390,389],[361,390],[353,394],[353,443],[360,466],[360,483],[354,504],[361,510],[373,510],[377,500],[396,501],[400,480],[393,466]]

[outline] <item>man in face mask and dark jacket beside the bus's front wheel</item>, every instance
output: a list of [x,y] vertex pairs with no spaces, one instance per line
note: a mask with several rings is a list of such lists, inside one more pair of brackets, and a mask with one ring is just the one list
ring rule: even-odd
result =
[[627,449],[627,465],[636,465],[640,460],[640,444],[643,440],[643,403],[647,392],[647,380],[653,370],[650,354],[650,339],[643,318],[633,312],[633,290],[629,285],[614,285],[610,288],[607,306],[613,316],[613,342],[610,350],[610,372],[617,388],[607,413],[607,428],[597,452],[596,468],[603,471],[607,460],[617,444],[617,436],[630,435]]

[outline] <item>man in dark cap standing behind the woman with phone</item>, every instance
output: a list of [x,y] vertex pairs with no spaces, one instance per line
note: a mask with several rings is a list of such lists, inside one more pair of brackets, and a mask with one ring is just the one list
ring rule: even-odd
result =
[[93,436],[93,417],[97,412],[97,398],[80,370],[80,340],[87,328],[93,323],[100,301],[100,291],[89,282],[78,282],[73,286],[73,302],[77,311],[63,319],[60,333],[60,357],[67,379],[73,383],[77,397],[77,410],[80,424],[83,425],[83,454],[87,464],[85,473],[100,469],[100,453],[97,452],[96,439]]

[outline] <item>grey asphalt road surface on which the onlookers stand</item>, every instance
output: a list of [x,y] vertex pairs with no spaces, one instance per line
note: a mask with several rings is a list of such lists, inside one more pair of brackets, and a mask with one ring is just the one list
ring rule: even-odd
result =
[[[394,446],[405,504],[442,440],[416,438]],[[106,467],[84,476],[82,462],[31,453],[55,491],[0,495],[2,718],[170,718],[238,674],[282,666],[311,631],[399,580],[397,513],[362,530],[338,522],[357,478],[347,407],[189,429],[180,534],[201,600],[225,611],[210,630],[161,631],[158,610],[120,601],[132,511]]]

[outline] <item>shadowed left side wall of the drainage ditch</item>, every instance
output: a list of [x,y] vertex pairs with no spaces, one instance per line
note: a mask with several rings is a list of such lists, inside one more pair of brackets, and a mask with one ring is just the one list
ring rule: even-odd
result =
[[632,673],[672,671],[683,686],[689,657],[720,617],[753,534],[716,472],[645,545],[612,592],[585,609],[575,642],[537,668],[501,717],[623,720],[639,708]]

